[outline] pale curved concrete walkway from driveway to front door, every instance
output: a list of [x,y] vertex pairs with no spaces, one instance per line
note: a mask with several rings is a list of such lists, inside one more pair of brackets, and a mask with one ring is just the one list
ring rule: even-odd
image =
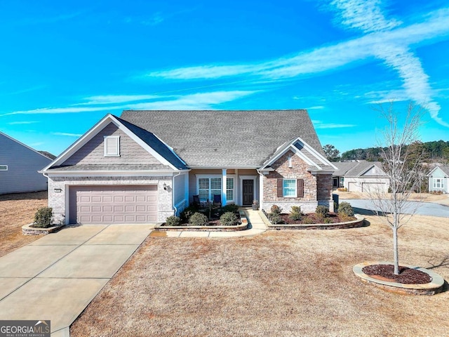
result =
[[[189,230],[167,230],[164,232],[153,232],[150,236],[154,237],[249,237],[261,234],[267,230],[267,225],[259,216],[260,211],[253,211],[252,209],[244,209],[248,217],[248,229],[239,230],[236,232],[213,232],[201,231],[192,232]],[[154,235],[153,235],[154,234]]]

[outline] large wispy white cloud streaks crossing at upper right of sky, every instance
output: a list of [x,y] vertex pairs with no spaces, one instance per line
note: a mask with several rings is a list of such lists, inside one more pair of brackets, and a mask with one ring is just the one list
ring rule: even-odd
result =
[[385,9],[380,0],[334,0],[330,5],[338,10],[340,24],[350,29],[359,29],[365,34],[356,39],[275,60],[240,65],[181,67],[149,72],[145,76],[173,80],[246,77],[255,81],[284,81],[336,72],[377,58],[383,60],[387,67],[396,70],[403,81],[406,99],[415,100],[419,104],[425,103],[435,121],[449,126],[438,117],[440,106],[434,101],[435,93],[429,84],[429,77],[419,58],[410,49],[410,46],[431,44],[449,36],[449,8],[441,8],[425,15],[424,22],[403,27],[400,20],[385,17]]

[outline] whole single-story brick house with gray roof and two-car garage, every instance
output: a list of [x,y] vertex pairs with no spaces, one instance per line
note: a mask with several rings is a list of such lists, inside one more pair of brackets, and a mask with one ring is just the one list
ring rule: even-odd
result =
[[198,195],[269,211],[333,210],[332,173],[306,110],[107,114],[43,169],[66,223],[162,223]]

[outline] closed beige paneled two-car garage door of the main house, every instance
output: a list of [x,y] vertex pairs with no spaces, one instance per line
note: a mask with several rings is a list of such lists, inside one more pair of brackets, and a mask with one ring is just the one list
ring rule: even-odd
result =
[[70,223],[156,223],[157,186],[71,186]]

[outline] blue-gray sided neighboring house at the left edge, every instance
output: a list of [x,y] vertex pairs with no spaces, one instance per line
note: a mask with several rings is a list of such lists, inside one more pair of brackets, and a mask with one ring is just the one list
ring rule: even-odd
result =
[[38,171],[51,159],[0,132],[0,194],[47,189],[47,179]]

